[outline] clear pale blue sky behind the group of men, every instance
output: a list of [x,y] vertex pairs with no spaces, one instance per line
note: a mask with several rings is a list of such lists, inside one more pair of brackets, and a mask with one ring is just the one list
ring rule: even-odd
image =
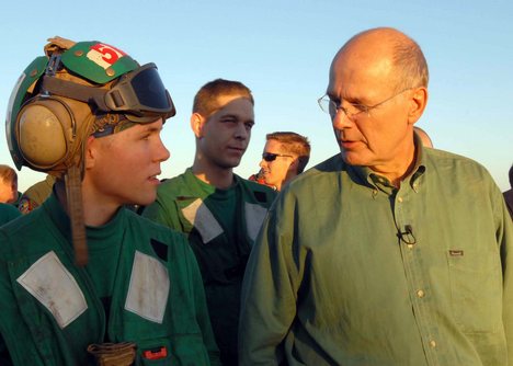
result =
[[[101,41],[140,64],[156,62],[176,105],[163,140],[161,178],[193,162],[189,126],[196,91],[216,78],[240,80],[255,99],[251,144],[236,172],[259,170],[265,134],[309,137],[311,162],[338,152],[324,93],[337,50],[355,33],[394,26],[413,37],[430,66],[430,101],[418,125],[436,148],[483,164],[502,191],[513,163],[513,1],[89,0],[2,3],[0,116],[23,69],[46,38]],[[0,163],[13,165],[1,124]],[[20,191],[44,178],[26,167]]]

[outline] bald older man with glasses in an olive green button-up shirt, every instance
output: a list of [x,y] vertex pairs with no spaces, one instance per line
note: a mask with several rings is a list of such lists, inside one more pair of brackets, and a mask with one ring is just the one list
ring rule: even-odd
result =
[[478,163],[422,147],[420,47],[392,28],[337,54],[341,153],[278,196],[251,253],[241,365],[512,364],[513,229]]

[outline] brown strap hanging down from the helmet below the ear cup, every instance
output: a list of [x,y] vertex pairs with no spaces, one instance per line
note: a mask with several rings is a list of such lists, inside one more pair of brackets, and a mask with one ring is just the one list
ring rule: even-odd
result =
[[78,266],[84,266],[88,264],[88,245],[86,240],[86,226],[83,224],[80,169],[76,165],[70,167],[66,174],[66,194],[69,218],[71,220],[75,263]]

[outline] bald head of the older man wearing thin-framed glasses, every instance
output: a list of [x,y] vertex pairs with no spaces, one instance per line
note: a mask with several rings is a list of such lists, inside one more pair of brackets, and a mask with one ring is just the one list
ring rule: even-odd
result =
[[414,159],[426,84],[424,56],[406,34],[375,28],[352,37],[331,64],[324,98],[344,161],[399,184]]

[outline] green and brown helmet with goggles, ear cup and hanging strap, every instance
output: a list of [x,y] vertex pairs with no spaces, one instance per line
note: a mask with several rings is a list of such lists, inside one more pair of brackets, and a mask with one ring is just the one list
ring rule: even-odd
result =
[[175,108],[155,64],[139,64],[98,41],[53,37],[45,56],[18,79],[8,104],[5,135],[11,157],[65,179],[76,261],[87,263],[81,205],[83,149],[89,136],[172,117]]

